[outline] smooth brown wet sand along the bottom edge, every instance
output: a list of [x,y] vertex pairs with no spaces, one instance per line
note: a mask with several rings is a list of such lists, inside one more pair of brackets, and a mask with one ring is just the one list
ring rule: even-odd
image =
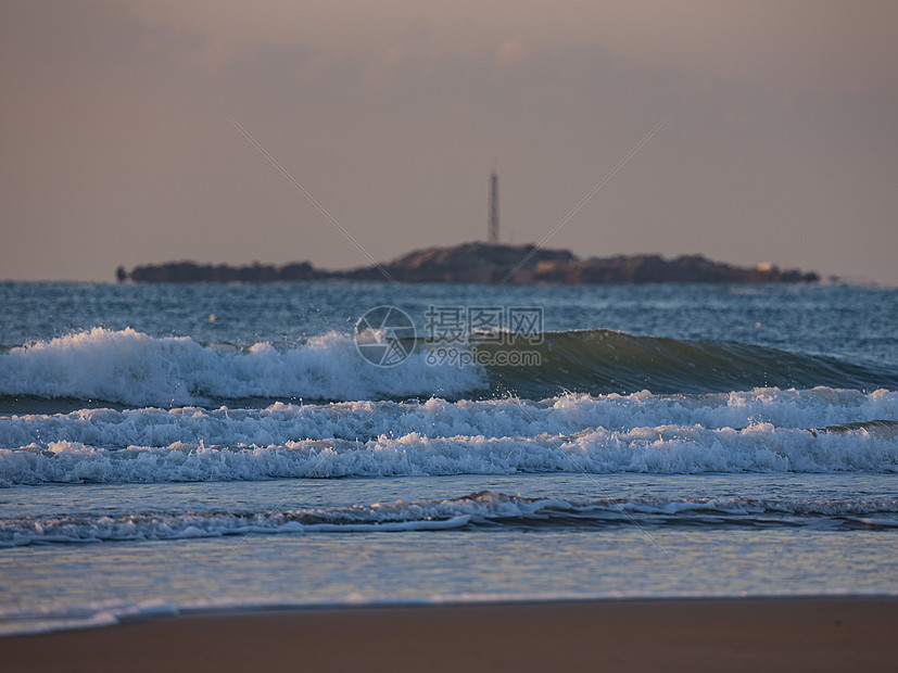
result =
[[0,639],[12,671],[894,670],[898,600],[359,607],[148,620]]

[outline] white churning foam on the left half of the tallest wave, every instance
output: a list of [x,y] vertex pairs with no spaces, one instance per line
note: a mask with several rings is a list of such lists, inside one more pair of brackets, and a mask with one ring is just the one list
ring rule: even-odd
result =
[[0,394],[172,406],[242,397],[453,395],[485,386],[480,369],[433,367],[425,357],[415,353],[402,367],[378,368],[338,332],[287,351],[267,343],[242,351],[98,327],[0,354]]

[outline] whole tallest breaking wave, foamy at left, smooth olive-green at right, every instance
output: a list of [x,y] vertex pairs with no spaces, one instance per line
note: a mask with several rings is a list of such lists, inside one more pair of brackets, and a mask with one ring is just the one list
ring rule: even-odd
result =
[[[25,406],[28,398],[71,398],[175,407],[237,399],[262,401],[265,406],[274,399],[460,399],[508,393],[543,399],[564,391],[701,394],[758,386],[898,389],[894,367],[736,342],[678,341],[610,330],[546,333],[533,340],[540,343],[521,336],[506,345],[463,346],[483,358],[479,360],[483,365],[468,367],[433,365],[437,346],[419,344],[402,364],[379,368],[359,356],[351,335],[338,332],[276,348],[268,343],[204,345],[188,336],[156,338],[131,329],[93,328],[0,353],[0,396],[8,403],[23,397]],[[535,354],[540,364],[499,366],[499,351]]]

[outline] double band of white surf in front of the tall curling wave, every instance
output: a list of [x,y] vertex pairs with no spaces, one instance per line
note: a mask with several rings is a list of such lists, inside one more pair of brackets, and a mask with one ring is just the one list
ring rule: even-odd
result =
[[0,484],[898,470],[898,393],[81,409],[0,424]]

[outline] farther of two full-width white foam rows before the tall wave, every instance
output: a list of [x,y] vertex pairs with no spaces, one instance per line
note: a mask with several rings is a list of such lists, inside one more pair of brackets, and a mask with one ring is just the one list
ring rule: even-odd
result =
[[103,448],[188,445],[271,446],[298,440],[367,442],[401,437],[486,439],[569,435],[584,429],[629,431],[661,426],[709,430],[770,423],[779,429],[820,428],[898,418],[898,393],[817,388],[756,389],[697,396],[649,393],[565,395],[542,402],[518,399],[333,404],[282,404],[265,409],[80,409],[71,414],[0,419],[0,447],[69,442]]

